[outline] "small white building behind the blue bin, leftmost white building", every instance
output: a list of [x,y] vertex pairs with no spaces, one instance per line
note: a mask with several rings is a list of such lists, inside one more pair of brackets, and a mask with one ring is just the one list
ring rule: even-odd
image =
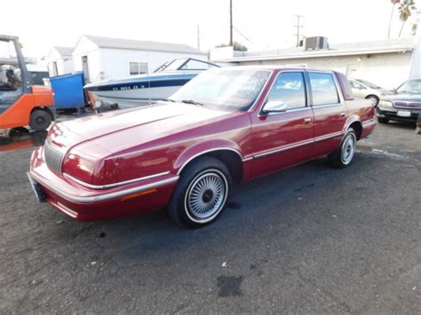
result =
[[47,56],[50,76],[65,75],[74,71],[72,51],[72,47],[52,47]]

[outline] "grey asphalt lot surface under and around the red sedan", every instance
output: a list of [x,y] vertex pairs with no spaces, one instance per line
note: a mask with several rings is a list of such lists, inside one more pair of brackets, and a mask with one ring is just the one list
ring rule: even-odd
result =
[[164,211],[75,222],[36,203],[31,149],[16,150],[0,152],[0,313],[421,312],[413,125],[378,125],[346,169],[239,186],[199,230]]

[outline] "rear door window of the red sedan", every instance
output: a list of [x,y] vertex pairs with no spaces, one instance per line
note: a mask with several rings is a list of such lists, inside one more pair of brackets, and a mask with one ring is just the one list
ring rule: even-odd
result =
[[313,106],[338,104],[339,96],[335,80],[331,74],[309,72],[313,96]]

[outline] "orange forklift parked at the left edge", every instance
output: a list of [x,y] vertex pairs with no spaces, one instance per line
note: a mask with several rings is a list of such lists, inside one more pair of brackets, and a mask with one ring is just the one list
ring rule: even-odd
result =
[[[9,58],[2,58],[3,52]],[[15,52],[16,58],[11,51]],[[17,62],[16,62],[17,61]],[[32,85],[18,37],[0,35],[0,130],[46,130],[54,120],[52,89]]]

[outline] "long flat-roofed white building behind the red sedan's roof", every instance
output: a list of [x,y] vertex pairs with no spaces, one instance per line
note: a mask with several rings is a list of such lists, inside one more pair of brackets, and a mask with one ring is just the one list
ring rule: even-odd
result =
[[329,48],[319,50],[295,47],[240,52],[233,51],[232,47],[224,47],[211,51],[211,60],[234,65],[329,68],[346,74],[348,78],[365,79],[393,89],[408,80],[415,67],[419,67],[414,52],[417,51],[416,43],[413,36],[366,43],[331,44]]

